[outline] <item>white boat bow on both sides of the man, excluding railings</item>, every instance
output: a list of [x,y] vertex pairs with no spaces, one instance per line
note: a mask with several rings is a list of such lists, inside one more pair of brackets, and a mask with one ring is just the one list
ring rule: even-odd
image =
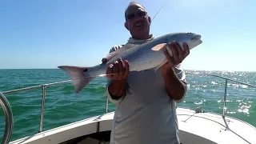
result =
[[[230,130],[227,130],[222,115],[219,114],[195,113],[194,110],[181,107],[177,108],[177,114],[179,135],[182,144],[256,143],[256,138],[253,136],[256,135],[256,128],[236,118],[226,117],[226,122],[230,128]],[[99,137],[104,136],[106,137],[105,139],[109,139],[113,118],[114,112],[87,118],[82,121],[18,139],[14,142],[10,142],[10,144],[99,143],[97,138],[92,138],[89,134],[102,133]],[[89,138],[82,138],[82,136],[86,135],[89,136]]]

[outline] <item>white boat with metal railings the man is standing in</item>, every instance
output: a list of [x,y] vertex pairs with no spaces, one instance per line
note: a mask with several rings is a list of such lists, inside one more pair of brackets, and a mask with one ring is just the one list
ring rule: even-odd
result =
[[[190,110],[186,107],[177,106],[179,137],[182,144],[256,144],[256,128],[238,118],[225,115],[226,110],[226,90],[227,82],[238,82],[239,84],[256,88],[254,85],[239,82],[234,79],[206,73],[187,73],[205,75],[225,80],[225,90],[223,96],[223,113],[215,114],[203,111],[200,107]],[[100,144],[110,143],[110,133],[114,112],[108,112],[108,99],[106,98],[105,114],[86,118],[78,122],[73,122],[65,126],[59,126],[51,130],[42,131],[43,112],[46,98],[46,87],[60,85],[70,82],[54,82],[39,86],[31,86],[18,90],[0,92],[0,104],[4,110],[6,118],[6,129],[2,138],[2,144]],[[19,138],[10,142],[13,130],[13,114],[5,94],[13,94],[24,90],[34,90],[42,88],[42,106],[39,130],[24,138]]]

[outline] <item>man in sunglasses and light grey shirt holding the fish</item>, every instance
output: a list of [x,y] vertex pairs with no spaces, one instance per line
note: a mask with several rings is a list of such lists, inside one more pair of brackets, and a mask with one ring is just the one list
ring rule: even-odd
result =
[[[130,2],[125,12],[125,27],[131,37],[127,44],[142,44],[154,39],[150,16],[144,6]],[[123,45],[114,46],[110,52]],[[112,144],[178,144],[176,102],[186,94],[185,72],[180,63],[189,55],[178,43],[168,44],[168,62],[158,69],[129,72],[129,62],[118,58],[106,70],[106,95],[116,104],[111,131]],[[102,58],[106,62],[106,58]]]

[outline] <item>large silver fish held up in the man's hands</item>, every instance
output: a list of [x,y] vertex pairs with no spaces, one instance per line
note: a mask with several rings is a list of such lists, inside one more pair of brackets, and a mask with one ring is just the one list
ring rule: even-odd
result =
[[[154,69],[158,70],[167,62],[166,56],[163,53],[162,47],[168,42],[178,42],[184,50],[183,42],[189,46],[190,50],[202,43],[201,35],[194,33],[172,33],[166,34],[158,38],[154,38],[150,42],[141,45],[126,45],[121,49],[116,50],[106,56],[108,62],[91,67],[78,66],[58,66],[65,70],[74,84],[75,93],[78,94],[91,80],[98,76],[106,74],[106,67],[113,63],[118,58],[128,60],[130,71],[140,71]],[[167,48],[172,56],[171,50]]]

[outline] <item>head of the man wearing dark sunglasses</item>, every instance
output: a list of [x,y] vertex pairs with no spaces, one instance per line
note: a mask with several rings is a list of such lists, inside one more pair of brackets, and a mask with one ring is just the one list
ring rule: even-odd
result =
[[150,17],[142,6],[134,4],[126,10],[125,26],[134,37],[145,37],[150,31]]

